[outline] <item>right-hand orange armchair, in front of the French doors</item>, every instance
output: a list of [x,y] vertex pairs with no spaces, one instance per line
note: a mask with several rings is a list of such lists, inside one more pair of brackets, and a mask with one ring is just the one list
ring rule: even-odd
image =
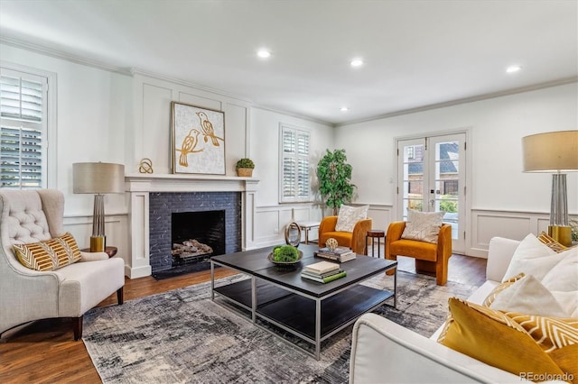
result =
[[448,261],[452,256],[452,225],[443,224],[437,243],[402,239],[406,222],[389,224],[386,236],[386,259],[399,256],[415,258],[415,270],[435,273],[435,283],[444,286],[448,281]]

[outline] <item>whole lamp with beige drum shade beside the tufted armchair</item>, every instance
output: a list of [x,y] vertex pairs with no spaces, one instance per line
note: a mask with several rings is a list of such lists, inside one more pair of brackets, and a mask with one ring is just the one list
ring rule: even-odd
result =
[[74,193],[95,194],[90,251],[105,251],[104,194],[125,192],[125,166],[106,162],[77,162],[72,164],[72,180]]

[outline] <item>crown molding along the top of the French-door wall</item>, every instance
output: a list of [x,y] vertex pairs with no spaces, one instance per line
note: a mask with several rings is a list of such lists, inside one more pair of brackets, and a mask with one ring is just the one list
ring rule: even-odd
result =
[[355,123],[373,122],[375,120],[386,119],[388,117],[394,117],[394,116],[401,116],[403,114],[415,114],[418,112],[430,111],[432,109],[444,108],[446,106],[473,103],[476,101],[488,100],[490,98],[516,95],[516,94],[521,94],[524,92],[536,91],[539,89],[545,89],[545,88],[550,88],[550,87],[564,86],[566,84],[572,84],[572,83],[576,83],[576,82],[578,82],[578,76],[575,76],[572,78],[560,78],[558,80],[548,81],[545,83],[535,84],[535,85],[527,86],[527,87],[517,87],[517,88],[507,89],[504,91],[492,92],[492,93],[478,95],[478,96],[463,97],[463,98],[458,98],[455,100],[444,101],[443,103],[435,103],[435,104],[430,104],[430,105],[418,106],[415,108],[404,109],[401,111],[391,112],[388,114],[378,114],[378,115],[373,116],[373,117],[351,120],[351,121],[348,121],[345,123],[336,123],[336,124],[334,124],[334,126],[340,127],[340,126],[350,125],[350,124],[355,124]]

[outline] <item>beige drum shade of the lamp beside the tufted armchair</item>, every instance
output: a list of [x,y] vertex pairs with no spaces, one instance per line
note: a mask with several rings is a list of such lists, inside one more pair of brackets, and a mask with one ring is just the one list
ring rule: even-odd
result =
[[125,192],[125,166],[107,162],[72,164],[72,192],[107,194]]

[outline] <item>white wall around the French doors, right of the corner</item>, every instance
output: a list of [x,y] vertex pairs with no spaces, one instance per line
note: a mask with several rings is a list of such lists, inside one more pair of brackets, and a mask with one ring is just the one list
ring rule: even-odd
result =
[[[335,145],[345,148],[359,187],[359,203],[396,206],[396,138],[469,129],[468,254],[487,246],[491,235],[520,237],[544,228],[550,211],[551,176],[522,172],[522,137],[578,128],[576,83],[462,105],[343,125]],[[578,177],[568,174],[568,208],[578,214]],[[394,182],[390,183],[389,181]],[[480,215],[479,212],[492,212]],[[391,220],[398,219],[393,208]],[[507,215],[504,215],[507,213]],[[512,221],[513,217],[516,220]],[[523,225],[519,230],[510,224]],[[538,217],[538,218],[536,218]],[[507,230],[508,233],[501,232]],[[469,242],[469,244],[468,244]]]

